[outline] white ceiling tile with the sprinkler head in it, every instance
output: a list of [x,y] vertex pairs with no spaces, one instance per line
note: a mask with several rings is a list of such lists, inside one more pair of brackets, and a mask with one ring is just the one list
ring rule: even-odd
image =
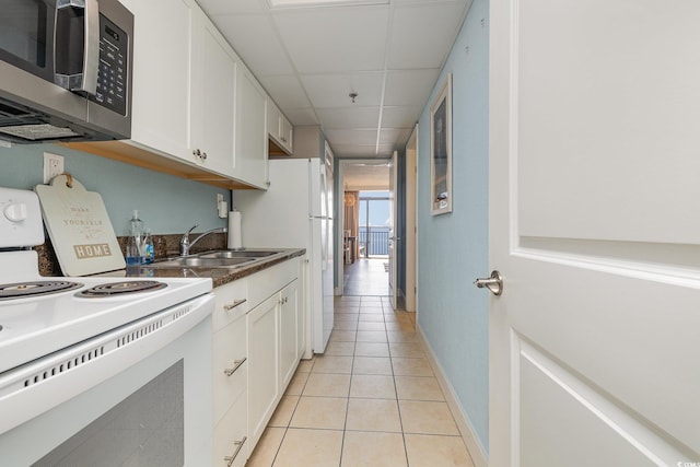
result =
[[358,93],[358,106],[380,105],[382,102],[382,72],[303,74],[301,80],[315,107],[351,105],[351,91]]

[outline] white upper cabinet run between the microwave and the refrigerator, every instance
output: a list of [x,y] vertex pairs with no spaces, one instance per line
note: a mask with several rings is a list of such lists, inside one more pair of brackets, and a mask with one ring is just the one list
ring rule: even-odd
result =
[[136,23],[128,143],[188,178],[267,188],[267,94],[233,48],[192,0],[125,3]]

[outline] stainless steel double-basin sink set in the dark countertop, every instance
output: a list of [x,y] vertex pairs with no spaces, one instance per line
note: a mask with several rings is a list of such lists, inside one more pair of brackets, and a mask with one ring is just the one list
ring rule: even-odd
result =
[[160,259],[148,265],[149,268],[224,268],[244,267],[261,259],[271,259],[283,250],[218,249],[190,256]]

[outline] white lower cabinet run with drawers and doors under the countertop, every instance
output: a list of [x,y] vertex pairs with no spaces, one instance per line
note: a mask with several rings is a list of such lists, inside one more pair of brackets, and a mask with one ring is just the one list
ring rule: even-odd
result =
[[292,258],[214,289],[214,466],[245,464],[299,365],[300,271]]

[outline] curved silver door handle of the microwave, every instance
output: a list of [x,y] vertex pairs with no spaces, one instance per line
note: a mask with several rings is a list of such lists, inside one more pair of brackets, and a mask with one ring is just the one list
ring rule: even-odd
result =
[[[71,69],[71,63],[75,61],[71,57],[75,50],[70,48],[71,27],[75,25],[70,21],[71,13],[66,9],[82,9],[83,23],[83,49],[82,68]],[[54,32],[54,44],[56,45],[55,82],[61,87],[73,92],[81,92],[90,95],[97,94],[97,71],[100,69],[100,5],[97,0],[58,0],[56,2],[56,31]],[[61,20],[61,16],[66,16]],[[60,49],[59,49],[60,47]]]

